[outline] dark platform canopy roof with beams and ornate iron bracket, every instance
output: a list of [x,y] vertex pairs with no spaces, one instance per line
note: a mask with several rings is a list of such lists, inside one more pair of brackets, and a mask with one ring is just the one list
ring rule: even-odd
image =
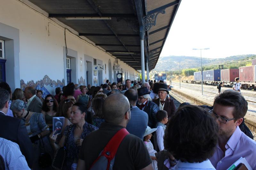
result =
[[[156,66],[181,0],[29,1],[46,11],[50,18],[57,18],[80,36],[85,36],[135,70],[141,70],[140,32],[145,31],[145,63],[148,60],[149,70],[152,70]],[[87,20],[78,20],[77,17]]]

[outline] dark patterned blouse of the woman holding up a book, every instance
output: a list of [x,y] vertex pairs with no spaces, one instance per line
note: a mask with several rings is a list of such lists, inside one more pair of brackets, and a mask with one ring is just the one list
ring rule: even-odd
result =
[[[70,132],[69,132],[69,129],[70,129]],[[76,146],[76,143],[75,143],[75,137],[74,137],[75,129],[76,129],[76,124],[73,124],[73,125],[66,126],[63,132],[63,135],[66,136],[66,140],[65,140],[66,143],[64,145],[67,148],[67,154],[66,154],[67,167],[71,166],[71,164],[74,162],[74,159],[78,160],[78,154],[81,149],[81,146]],[[92,131],[97,130],[98,128],[96,126],[93,126],[85,122],[83,129],[84,131],[80,136],[81,139],[85,139],[87,135],[89,135]]]

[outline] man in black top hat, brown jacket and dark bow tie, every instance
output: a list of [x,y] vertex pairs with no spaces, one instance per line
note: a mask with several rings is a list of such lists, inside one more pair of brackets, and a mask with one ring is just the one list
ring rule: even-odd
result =
[[153,100],[154,103],[159,107],[160,110],[165,110],[170,118],[175,113],[175,105],[172,99],[167,98],[169,91],[167,85],[159,84],[158,85],[158,99]]

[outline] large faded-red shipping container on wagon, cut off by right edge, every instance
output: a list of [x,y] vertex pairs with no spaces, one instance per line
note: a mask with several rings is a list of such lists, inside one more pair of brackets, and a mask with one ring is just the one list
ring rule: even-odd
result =
[[255,82],[256,65],[239,67],[239,78],[241,82]]

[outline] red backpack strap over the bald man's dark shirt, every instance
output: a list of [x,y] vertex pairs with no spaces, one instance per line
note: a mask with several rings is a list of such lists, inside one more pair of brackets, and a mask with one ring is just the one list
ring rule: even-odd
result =
[[107,167],[107,170],[108,170],[110,166],[110,161],[115,157],[119,145],[123,141],[124,137],[126,137],[126,135],[128,134],[129,132],[125,128],[118,130],[118,132],[116,132],[116,134],[109,140],[108,144],[105,146],[105,148],[101,152],[101,155],[94,160],[92,165],[95,162],[97,162],[101,156],[105,156],[108,159],[108,167]]

